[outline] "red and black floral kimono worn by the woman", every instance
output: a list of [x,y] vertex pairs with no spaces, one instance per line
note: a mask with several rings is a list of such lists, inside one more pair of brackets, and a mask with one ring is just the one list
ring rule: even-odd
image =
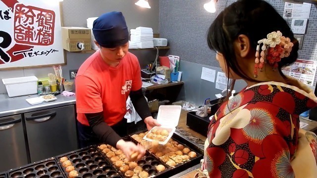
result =
[[[312,92],[283,83],[244,89],[212,118],[202,169],[210,178],[295,177],[291,161],[298,147],[299,115],[315,106]],[[309,157],[316,169],[312,149]]]

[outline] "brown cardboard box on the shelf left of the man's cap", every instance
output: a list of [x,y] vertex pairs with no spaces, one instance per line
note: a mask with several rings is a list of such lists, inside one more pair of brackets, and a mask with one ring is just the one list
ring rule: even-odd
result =
[[91,29],[84,27],[62,27],[63,48],[67,51],[91,50]]

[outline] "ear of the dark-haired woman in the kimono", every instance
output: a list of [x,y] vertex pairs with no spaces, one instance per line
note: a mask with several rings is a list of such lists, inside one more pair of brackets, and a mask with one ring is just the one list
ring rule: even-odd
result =
[[237,40],[234,42],[236,49],[236,54],[240,57],[247,57],[251,50],[251,43],[249,38],[246,35],[239,35]]

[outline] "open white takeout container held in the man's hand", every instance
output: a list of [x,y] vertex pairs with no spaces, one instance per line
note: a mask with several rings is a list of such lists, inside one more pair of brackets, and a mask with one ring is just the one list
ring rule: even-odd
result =
[[[159,113],[158,113],[158,123],[161,125],[160,127],[153,127],[149,133],[151,133],[154,129],[158,130],[167,130],[168,136],[164,141],[159,141],[159,144],[166,144],[170,137],[174,134],[176,130],[176,126],[178,125],[180,113],[182,111],[182,106],[176,105],[162,105],[159,106]],[[148,133],[148,134],[149,134]],[[143,139],[148,141],[154,141],[153,139],[148,138],[148,134],[146,134]]]

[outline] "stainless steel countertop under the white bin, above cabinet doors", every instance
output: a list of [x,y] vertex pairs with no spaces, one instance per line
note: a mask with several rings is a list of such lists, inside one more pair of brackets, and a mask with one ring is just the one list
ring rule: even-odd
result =
[[41,104],[36,105],[31,105],[25,100],[38,96],[37,94],[32,94],[9,97],[7,94],[0,94],[0,117],[76,104],[76,96],[63,96],[62,94],[57,95],[57,99],[54,101],[43,101]]

